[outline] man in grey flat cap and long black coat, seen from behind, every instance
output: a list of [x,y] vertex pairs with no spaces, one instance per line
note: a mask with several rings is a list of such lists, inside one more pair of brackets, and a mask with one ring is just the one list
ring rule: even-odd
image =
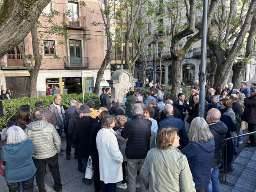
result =
[[[91,110],[88,105],[81,105],[77,110],[81,119],[74,124],[74,134],[71,139],[77,145],[77,159],[81,159],[83,168],[82,172],[85,173],[86,165],[89,158],[89,140],[91,133],[91,126],[97,123],[97,120],[91,117]],[[89,185],[91,179],[83,178],[82,181]]]

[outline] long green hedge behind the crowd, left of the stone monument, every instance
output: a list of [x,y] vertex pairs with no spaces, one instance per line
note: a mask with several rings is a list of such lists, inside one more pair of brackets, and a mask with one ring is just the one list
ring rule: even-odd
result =
[[[39,98],[29,98],[23,97],[19,99],[11,99],[11,100],[3,100],[3,113],[4,116],[0,118],[0,130],[6,127],[6,123],[10,121],[13,115],[17,115],[19,107],[24,104],[30,105],[31,110],[34,110],[34,104],[36,101],[42,101],[44,103],[44,109],[47,109],[48,106],[54,101],[55,96],[42,96]],[[99,96],[94,93],[85,93],[84,94],[84,102],[83,102],[83,94],[69,94],[69,95],[61,95],[61,105],[63,106],[64,110],[70,107],[70,101],[76,100],[78,103],[85,104],[87,101],[92,100],[94,101],[96,107],[100,106],[100,99]]]

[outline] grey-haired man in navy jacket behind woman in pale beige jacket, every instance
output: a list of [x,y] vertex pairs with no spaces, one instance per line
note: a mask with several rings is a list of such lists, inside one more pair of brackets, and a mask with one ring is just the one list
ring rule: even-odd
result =
[[164,112],[165,112],[166,118],[158,124],[158,131],[165,126],[178,128],[179,129],[178,135],[180,137],[180,140],[179,140],[179,147],[177,148],[181,150],[182,148],[186,147],[188,144],[188,136],[187,136],[187,131],[184,126],[184,123],[181,119],[173,117],[173,106],[171,104],[165,105]]

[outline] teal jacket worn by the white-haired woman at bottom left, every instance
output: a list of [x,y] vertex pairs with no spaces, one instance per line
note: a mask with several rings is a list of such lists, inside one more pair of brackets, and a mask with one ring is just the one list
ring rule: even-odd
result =
[[6,162],[4,179],[10,183],[26,181],[36,174],[36,167],[32,160],[34,145],[26,140],[17,145],[5,145],[1,151],[1,158]]

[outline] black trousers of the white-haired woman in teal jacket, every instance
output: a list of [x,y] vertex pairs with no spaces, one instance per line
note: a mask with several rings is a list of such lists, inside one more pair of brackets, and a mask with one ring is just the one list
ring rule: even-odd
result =
[[[22,181],[22,187],[23,187],[23,192],[33,192],[33,184],[34,181],[34,176],[29,178],[26,181]],[[7,187],[9,188],[9,192],[20,192],[20,182],[18,183],[7,183]]]

